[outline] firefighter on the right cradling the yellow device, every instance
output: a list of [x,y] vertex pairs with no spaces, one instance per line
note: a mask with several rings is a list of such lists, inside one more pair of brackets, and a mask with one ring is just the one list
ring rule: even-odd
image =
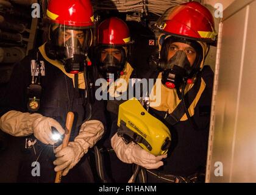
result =
[[[120,160],[138,165],[132,182],[204,182],[213,87],[213,71],[204,60],[216,42],[213,16],[199,2],[187,2],[166,10],[156,26],[161,33],[158,67],[148,79],[162,82],[149,90],[145,107],[169,128],[168,155],[140,152],[117,134],[112,147]],[[157,89],[160,104],[153,105]]]

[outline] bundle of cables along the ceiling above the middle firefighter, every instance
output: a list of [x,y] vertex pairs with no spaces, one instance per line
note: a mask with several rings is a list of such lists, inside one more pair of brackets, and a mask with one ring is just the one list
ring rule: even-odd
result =
[[92,0],[94,10],[118,10],[119,12],[154,13],[162,15],[166,9],[188,0]]

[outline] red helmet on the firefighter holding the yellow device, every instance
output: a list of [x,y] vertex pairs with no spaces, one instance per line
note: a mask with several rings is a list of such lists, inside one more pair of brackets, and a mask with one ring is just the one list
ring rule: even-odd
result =
[[213,16],[199,2],[187,2],[166,10],[157,27],[165,34],[207,43],[216,41]]

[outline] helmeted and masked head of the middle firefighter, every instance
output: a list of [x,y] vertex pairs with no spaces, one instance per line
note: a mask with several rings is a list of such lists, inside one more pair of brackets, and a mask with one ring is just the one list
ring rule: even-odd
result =
[[[99,25],[97,64],[100,73],[108,81],[132,73],[133,68],[128,62],[131,43],[129,28],[123,20],[112,17]],[[110,78],[111,74],[114,78]]]

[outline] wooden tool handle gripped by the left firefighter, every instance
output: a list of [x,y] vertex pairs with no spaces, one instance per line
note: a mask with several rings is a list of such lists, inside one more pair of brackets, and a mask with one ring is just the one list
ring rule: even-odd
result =
[[[71,129],[73,126],[73,121],[74,121],[74,113],[68,112],[68,114],[66,115],[66,127],[65,127],[64,138],[62,141],[62,148],[68,146],[69,137],[70,137]],[[62,171],[58,171],[56,173],[55,183],[60,183],[61,181],[62,181]]]

